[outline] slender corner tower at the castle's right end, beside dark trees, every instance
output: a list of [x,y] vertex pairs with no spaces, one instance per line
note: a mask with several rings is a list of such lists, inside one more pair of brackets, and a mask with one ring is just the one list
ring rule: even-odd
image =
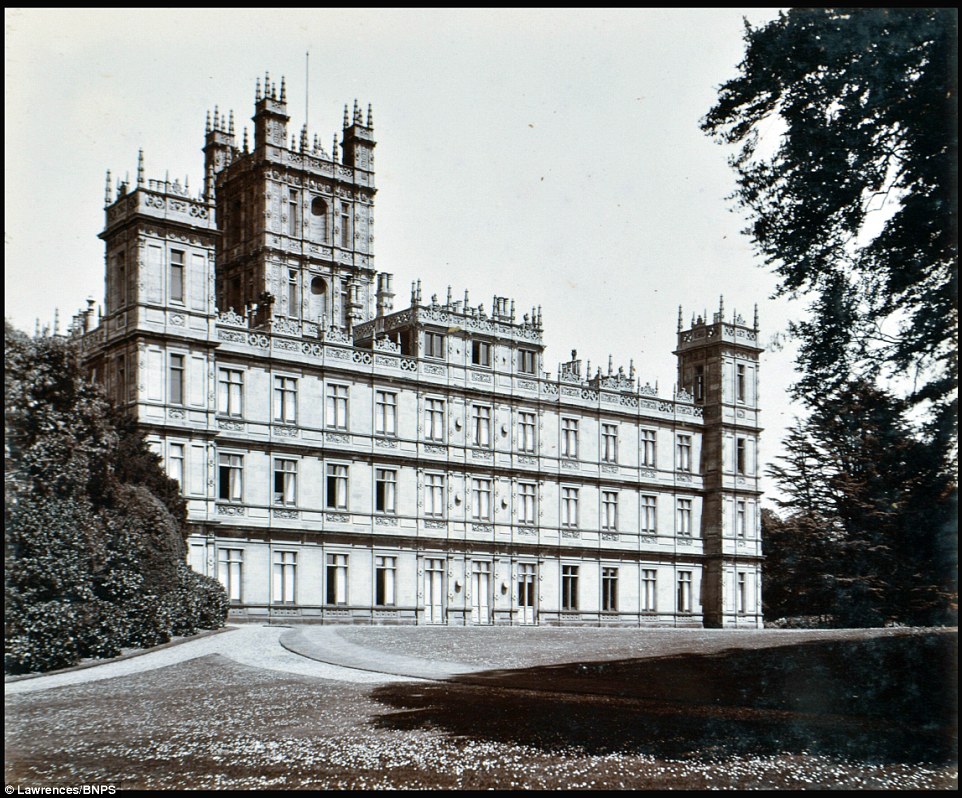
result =
[[678,310],[678,385],[704,408],[701,470],[705,626],[762,626],[758,310],[752,326],[724,301],[711,322]]

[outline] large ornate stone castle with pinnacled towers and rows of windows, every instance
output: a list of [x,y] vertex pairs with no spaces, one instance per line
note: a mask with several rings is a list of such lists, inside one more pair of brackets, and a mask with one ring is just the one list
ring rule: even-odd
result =
[[104,312],[74,320],[232,620],[762,625],[757,312],[679,309],[667,398],[574,352],[552,377],[540,308],[395,309],[370,107],[328,153],[266,76],[253,123],[208,116],[199,194],[108,172]]

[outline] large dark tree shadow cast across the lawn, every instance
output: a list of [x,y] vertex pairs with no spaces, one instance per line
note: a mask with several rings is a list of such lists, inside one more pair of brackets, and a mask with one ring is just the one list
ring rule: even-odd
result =
[[[958,633],[486,671],[393,684],[391,729],[671,759],[957,758]],[[535,692],[537,691],[537,692]]]

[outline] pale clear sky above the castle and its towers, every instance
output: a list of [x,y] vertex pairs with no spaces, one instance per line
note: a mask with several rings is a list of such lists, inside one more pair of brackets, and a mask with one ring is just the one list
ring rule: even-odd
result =
[[[330,151],[373,108],[375,267],[444,300],[540,305],[546,370],[576,349],[671,395],[678,306],[759,307],[762,459],[800,411],[774,277],[698,122],[734,77],[744,19],[777,9],[5,9],[5,315],[61,330],[103,302],[106,170],[203,182],[205,117],[251,128],[286,77],[290,130]],[[309,53],[309,57],[306,54]],[[253,131],[251,130],[251,133]],[[775,488],[763,487],[768,501]]]

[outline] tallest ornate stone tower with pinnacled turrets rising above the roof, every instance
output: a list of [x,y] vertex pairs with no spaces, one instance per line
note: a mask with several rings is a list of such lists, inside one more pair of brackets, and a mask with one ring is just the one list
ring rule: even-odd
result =
[[[237,146],[233,112],[215,108],[204,146],[208,199],[223,244],[217,306],[255,312],[258,323],[309,322],[349,331],[373,316],[374,135],[357,101],[344,107],[342,146],[288,133],[287,92],[270,79],[255,89],[254,146]],[[340,153],[340,155],[339,155]]]

